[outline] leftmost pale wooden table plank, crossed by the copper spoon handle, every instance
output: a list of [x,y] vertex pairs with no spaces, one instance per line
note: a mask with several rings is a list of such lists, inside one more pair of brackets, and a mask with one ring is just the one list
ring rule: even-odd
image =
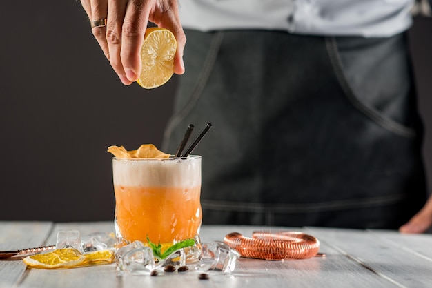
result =
[[[0,221],[0,250],[15,251],[50,245],[46,239],[52,226],[50,222]],[[26,264],[22,260],[0,260],[0,287],[19,283],[25,271]]]

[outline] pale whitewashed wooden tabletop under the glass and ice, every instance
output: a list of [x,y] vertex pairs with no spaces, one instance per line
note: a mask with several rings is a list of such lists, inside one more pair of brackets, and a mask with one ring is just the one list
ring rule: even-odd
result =
[[[203,226],[202,242],[222,240],[230,232],[251,236],[251,226]],[[268,228],[268,227],[266,227]],[[112,223],[0,222],[0,249],[17,250],[55,244],[60,229],[82,235],[113,232]],[[232,274],[195,271],[117,277],[115,264],[75,269],[28,269],[21,260],[0,261],[3,287],[432,287],[432,235],[382,230],[305,227],[320,240],[325,258],[266,261],[240,258]]]

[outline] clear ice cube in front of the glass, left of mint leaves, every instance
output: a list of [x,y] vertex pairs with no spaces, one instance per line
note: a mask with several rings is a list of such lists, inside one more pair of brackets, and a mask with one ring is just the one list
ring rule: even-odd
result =
[[155,269],[155,258],[150,247],[135,241],[121,247],[115,253],[119,275],[145,275]]

